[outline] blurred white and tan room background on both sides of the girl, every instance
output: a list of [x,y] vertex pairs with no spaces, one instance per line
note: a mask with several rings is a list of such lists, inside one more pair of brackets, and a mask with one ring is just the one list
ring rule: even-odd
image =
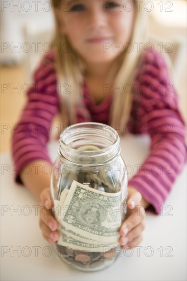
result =
[[[89,0],[88,0],[89,1]],[[186,0],[145,1],[150,40],[169,55],[175,71],[179,107],[187,122]],[[10,151],[10,138],[26,101],[27,84],[54,36],[50,1],[1,0],[1,153]]]

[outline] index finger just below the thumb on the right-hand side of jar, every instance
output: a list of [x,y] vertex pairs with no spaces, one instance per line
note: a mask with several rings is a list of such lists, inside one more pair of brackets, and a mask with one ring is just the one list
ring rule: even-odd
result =
[[139,225],[145,219],[145,213],[143,206],[135,207],[130,210],[131,215],[123,222],[120,228],[120,235],[125,236],[127,233],[137,225]]

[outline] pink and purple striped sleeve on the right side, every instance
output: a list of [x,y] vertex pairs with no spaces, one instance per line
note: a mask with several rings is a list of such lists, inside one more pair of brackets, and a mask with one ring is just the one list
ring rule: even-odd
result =
[[141,130],[136,133],[149,134],[151,148],[129,185],[139,190],[159,214],[186,162],[186,127],[161,54],[147,53],[143,68],[136,81],[140,89],[137,128]]

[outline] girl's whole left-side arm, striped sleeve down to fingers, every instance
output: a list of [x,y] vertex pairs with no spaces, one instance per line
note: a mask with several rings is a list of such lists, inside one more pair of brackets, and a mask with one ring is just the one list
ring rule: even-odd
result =
[[47,57],[48,64],[44,58],[34,74],[33,86],[28,91],[28,102],[13,131],[12,157],[16,170],[15,180],[24,184],[40,202],[39,225],[42,235],[46,241],[54,243],[54,239],[57,240],[58,225],[50,213],[46,216],[48,203],[45,203],[44,194],[47,192],[50,196],[48,171],[51,160],[47,143],[53,129],[52,120],[60,110],[60,102],[54,63],[51,54],[47,54]]

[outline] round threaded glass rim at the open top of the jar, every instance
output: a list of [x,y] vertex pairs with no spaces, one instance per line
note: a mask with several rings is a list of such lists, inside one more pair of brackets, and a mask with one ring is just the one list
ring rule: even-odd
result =
[[[101,134],[101,132],[103,132],[103,134]],[[94,133],[97,134],[94,135]],[[78,142],[78,137],[83,138],[83,136],[89,139],[92,138],[92,144],[94,143],[94,139],[95,142],[97,139],[97,141],[99,140],[101,143],[105,144],[106,147],[99,147],[99,150],[89,151],[73,148],[72,143],[75,142],[75,140]],[[119,154],[119,143],[120,138],[117,131],[109,125],[97,122],[76,123],[67,127],[61,132],[58,152],[60,156],[63,156],[70,161],[72,160],[73,155],[73,162],[84,162],[86,164],[90,162],[91,158],[92,161],[93,159],[97,159],[97,162],[100,163],[103,162],[103,158],[105,160],[111,160],[113,157]]]

